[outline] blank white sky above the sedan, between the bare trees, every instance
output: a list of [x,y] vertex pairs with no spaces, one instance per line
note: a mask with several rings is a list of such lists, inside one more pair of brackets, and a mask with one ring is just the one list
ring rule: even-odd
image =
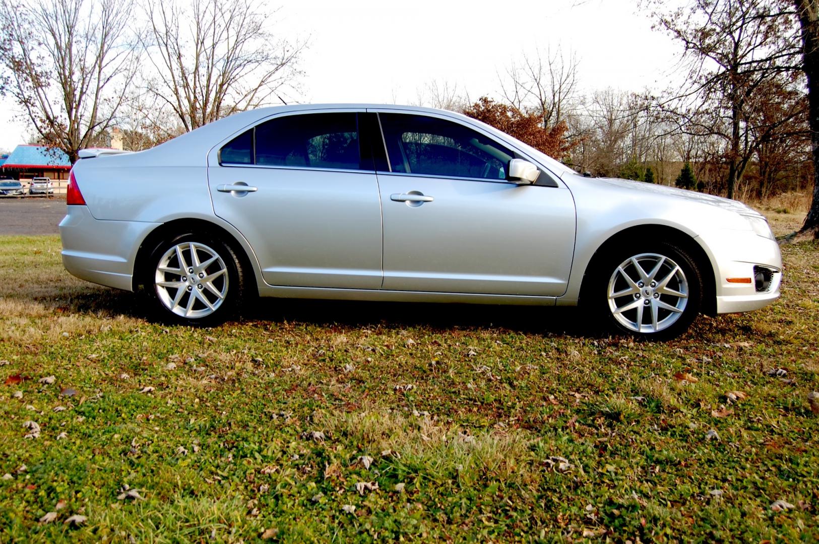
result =
[[[579,5],[576,5],[579,4]],[[579,61],[581,92],[665,88],[680,47],[651,30],[636,0],[284,0],[278,31],[310,37],[303,102],[409,103],[425,83],[457,84],[472,100],[500,91],[523,53],[561,47]],[[16,106],[0,100],[0,150],[25,142]]]

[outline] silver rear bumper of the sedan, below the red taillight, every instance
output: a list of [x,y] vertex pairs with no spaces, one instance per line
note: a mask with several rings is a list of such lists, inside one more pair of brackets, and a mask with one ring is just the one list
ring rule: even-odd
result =
[[87,206],[67,206],[60,222],[63,266],[81,280],[133,290],[139,244],[160,224],[103,221],[93,218]]

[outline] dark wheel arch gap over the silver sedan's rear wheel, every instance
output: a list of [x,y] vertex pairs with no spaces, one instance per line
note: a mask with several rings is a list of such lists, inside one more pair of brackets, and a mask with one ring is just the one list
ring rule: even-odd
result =
[[206,232],[210,236],[218,237],[219,240],[229,245],[230,249],[233,250],[233,253],[235,253],[240,260],[242,269],[246,271],[245,273],[247,275],[252,273],[254,276],[246,277],[245,281],[252,281],[253,284],[256,284],[256,266],[254,266],[255,259],[251,259],[251,256],[247,254],[247,250],[245,250],[242,242],[240,242],[238,238],[233,235],[233,233],[229,232],[224,227],[217,225],[216,223],[207,221],[206,219],[179,218],[173,219],[167,223],[162,223],[160,226],[156,227],[154,230],[149,232],[147,236],[145,236],[145,239],[139,245],[136,259],[134,259],[133,277],[131,280],[133,290],[136,291],[138,286],[142,284],[141,278],[146,276],[147,258],[151,255],[151,252],[156,248],[156,245],[158,245],[160,241],[169,236],[178,235],[181,232],[196,231]]

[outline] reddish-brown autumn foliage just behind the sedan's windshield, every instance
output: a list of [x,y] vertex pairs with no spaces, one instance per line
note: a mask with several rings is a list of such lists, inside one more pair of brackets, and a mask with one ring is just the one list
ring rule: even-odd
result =
[[578,143],[568,140],[568,127],[563,121],[551,128],[543,128],[541,114],[523,112],[488,97],[480,97],[472,106],[465,107],[464,115],[516,137],[557,160],[566,156]]

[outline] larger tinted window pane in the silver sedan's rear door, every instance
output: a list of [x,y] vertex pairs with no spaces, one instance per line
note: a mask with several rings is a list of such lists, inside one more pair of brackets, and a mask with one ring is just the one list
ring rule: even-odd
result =
[[[287,115],[256,127],[256,164],[361,169],[355,113]],[[370,170],[373,169],[370,164]]]

